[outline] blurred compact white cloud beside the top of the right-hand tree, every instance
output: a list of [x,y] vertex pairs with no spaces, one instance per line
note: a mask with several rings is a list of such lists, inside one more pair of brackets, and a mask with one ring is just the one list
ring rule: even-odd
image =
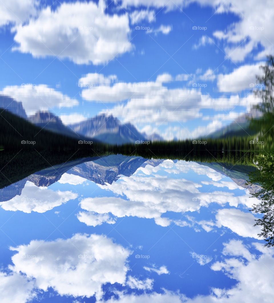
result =
[[230,74],[218,75],[217,86],[219,92],[239,92],[244,89],[253,89],[256,85],[256,75],[262,75],[259,67],[263,62],[252,65],[242,65],[235,68]]

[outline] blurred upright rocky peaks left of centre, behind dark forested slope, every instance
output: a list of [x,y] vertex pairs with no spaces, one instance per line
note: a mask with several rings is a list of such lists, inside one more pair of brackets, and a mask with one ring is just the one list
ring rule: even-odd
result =
[[66,135],[78,139],[94,139],[109,144],[134,143],[135,141],[155,141],[163,138],[153,133],[147,135],[141,133],[131,123],[121,123],[112,115],[100,114],[83,122],[64,125],[62,120],[48,111],[38,111],[34,115],[27,116],[22,102],[0,95],[0,108],[4,108],[13,114],[27,119],[34,125],[45,128],[51,132]]

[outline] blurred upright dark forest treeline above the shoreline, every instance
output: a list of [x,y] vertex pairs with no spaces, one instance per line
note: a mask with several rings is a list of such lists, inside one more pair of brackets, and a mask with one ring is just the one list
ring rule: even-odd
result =
[[[79,138],[87,144],[79,144],[75,138],[41,129],[23,118],[3,110],[0,115],[0,148],[5,150],[51,150],[71,151],[89,150],[90,153],[121,153],[128,154],[137,150],[140,154],[150,152],[159,156],[180,156],[181,153],[190,151],[269,151],[268,146],[250,143],[250,137],[226,137],[219,139],[201,138],[199,140],[182,140],[171,142],[150,142],[150,144],[124,144],[110,145],[93,141],[92,139]],[[26,144],[22,144],[26,142]],[[272,147],[272,145],[271,145]]]

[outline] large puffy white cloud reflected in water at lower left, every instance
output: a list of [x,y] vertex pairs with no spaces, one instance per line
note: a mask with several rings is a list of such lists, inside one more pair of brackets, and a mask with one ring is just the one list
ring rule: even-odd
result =
[[32,240],[28,245],[11,248],[12,271],[35,278],[43,291],[52,287],[59,295],[74,297],[103,294],[105,283],[126,281],[130,251],[104,235],[76,234],[70,239]]

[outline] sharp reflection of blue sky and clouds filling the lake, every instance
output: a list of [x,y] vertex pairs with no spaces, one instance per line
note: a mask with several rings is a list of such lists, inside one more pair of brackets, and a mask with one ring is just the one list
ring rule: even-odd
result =
[[253,227],[255,202],[185,161],[111,185],[68,173],[48,188],[27,181],[1,202],[1,293],[7,302],[270,302],[274,252]]

